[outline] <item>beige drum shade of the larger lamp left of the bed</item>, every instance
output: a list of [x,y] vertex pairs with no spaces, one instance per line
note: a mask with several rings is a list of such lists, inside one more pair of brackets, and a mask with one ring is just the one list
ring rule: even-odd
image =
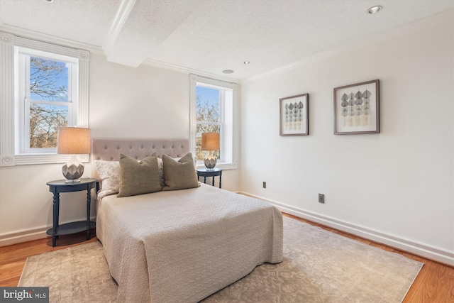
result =
[[91,150],[90,129],[82,127],[58,128],[57,153],[86,154]]

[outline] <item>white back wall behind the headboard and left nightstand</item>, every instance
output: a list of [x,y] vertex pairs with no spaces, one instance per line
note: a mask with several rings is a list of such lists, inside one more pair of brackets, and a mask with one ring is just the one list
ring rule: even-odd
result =
[[[92,54],[89,99],[92,137],[189,138],[189,75],[183,72],[125,67]],[[62,179],[61,167],[0,167],[0,245],[45,236],[52,226],[46,182]],[[87,163],[84,177],[91,170]],[[238,175],[238,170],[224,171],[223,188],[238,191]],[[84,219],[85,197],[84,192],[60,195],[60,223]]]

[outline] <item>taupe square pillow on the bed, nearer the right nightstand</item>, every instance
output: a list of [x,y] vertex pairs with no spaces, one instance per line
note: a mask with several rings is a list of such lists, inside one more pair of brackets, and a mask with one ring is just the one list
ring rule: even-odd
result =
[[178,161],[162,155],[165,187],[162,190],[175,190],[199,187],[192,154],[187,153]]

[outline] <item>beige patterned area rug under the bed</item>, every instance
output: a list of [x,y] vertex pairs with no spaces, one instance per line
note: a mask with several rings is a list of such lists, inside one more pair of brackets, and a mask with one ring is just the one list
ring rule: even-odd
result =
[[[284,261],[258,266],[203,302],[402,302],[422,265],[284,217]],[[116,302],[99,242],[28,258],[18,286],[48,286],[50,302]]]

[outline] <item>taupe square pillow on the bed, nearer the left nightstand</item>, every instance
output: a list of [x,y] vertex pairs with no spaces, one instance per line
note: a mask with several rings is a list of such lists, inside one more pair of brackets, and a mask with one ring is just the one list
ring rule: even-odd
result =
[[159,192],[162,189],[156,156],[149,155],[137,161],[121,153],[120,168],[121,180],[117,197]]

